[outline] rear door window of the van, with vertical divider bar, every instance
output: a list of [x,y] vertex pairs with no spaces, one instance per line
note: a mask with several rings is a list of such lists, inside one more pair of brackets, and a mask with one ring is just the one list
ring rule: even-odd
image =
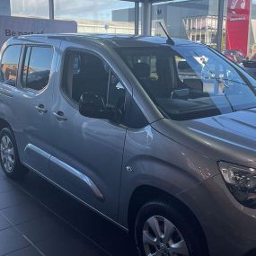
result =
[[29,46],[25,49],[22,68],[22,87],[41,91],[49,83],[53,57],[50,47]]

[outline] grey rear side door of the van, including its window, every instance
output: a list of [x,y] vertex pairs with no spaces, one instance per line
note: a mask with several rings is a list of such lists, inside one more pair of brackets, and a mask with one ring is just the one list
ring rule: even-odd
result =
[[49,114],[57,53],[49,45],[24,45],[13,92],[14,132],[22,163],[49,177]]

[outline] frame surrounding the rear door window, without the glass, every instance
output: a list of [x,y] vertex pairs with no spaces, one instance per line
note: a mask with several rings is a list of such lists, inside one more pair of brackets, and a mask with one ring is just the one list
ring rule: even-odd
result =
[[[35,47],[35,48],[49,48],[49,49],[53,50],[53,54],[52,54],[52,58],[51,58],[51,65],[50,65],[50,70],[49,70],[49,81],[50,81],[50,75],[52,74],[55,48],[52,45],[49,45],[49,44],[27,44],[27,43],[25,43],[25,44],[22,45],[22,55],[21,55],[22,57],[20,57],[20,64],[21,65],[20,65],[19,74],[18,74],[19,77],[20,77],[19,78],[19,85],[20,85],[19,87],[23,91],[40,94],[49,87],[49,81],[48,81],[48,84],[46,84],[41,90],[34,90],[32,88],[25,87],[25,86],[23,86],[23,82],[22,82],[22,74],[23,74],[24,64],[25,64],[25,60],[26,60],[26,53],[27,53],[27,49],[30,48],[30,47],[31,48],[33,48],[33,47]],[[31,55],[30,55],[30,59],[31,59]],[[29,61],[29,64],[30,64],[30,61]],[[27,81],[27,79],[26,79],[26,81]]]

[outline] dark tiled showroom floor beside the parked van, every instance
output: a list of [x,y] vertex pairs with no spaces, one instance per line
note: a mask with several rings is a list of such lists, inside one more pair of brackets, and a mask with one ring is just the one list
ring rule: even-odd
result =
[[0,170],[0,255],[130,256],[128,235],[30,172]]

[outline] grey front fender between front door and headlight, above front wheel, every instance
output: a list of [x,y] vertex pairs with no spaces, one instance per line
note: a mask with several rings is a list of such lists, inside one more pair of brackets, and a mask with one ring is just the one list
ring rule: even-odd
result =
[[128,202],[140,186],[152,186],[175,196],[218,173],[216,162],[164,137],[150,125],[128,129],[119,222],[128,226]]

